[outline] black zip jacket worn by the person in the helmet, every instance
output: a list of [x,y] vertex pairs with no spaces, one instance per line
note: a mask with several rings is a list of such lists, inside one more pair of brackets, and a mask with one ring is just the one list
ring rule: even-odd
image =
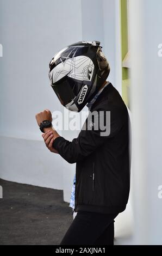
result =
[[[110,83],[98,96],[91,112],[110,111],[110,133],[95,130],[95,118],[72,142],[58,137],[53,147],[69,163],[76,162],[75,212],[122,212],[129,196],[129,115],[119,92]],[[102,112],[100,112],[102,111]],[[97,120],[97,119],[96,119]],[[85,126],[84,126],[85,127]]]

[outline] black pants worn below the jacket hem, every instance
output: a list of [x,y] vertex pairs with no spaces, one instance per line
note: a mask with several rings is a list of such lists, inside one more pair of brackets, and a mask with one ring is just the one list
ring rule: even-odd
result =
[[114,245],[114,218],[117,215],[77,212],[60,245]]

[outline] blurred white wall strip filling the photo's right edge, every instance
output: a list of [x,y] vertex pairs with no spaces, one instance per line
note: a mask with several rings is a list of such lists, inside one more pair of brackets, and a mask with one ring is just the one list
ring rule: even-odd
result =
[[161,0],[130,0],[133,243],[137,245],[162,243],[161,9]]

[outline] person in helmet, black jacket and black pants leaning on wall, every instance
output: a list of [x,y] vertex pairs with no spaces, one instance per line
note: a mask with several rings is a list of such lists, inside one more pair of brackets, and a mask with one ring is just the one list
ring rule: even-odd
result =
[[[49,78],[61,104],[89,116],[72,142],[52,128],[48,109],[36,115],[47,148],[76,163],[74,212],[60,245],[113,245],[114,219],[129,196],[129,116],[106,79],[110,67],[98,41],[77,42],[55,54]],[[101,125],[102,123],[102,125]]]

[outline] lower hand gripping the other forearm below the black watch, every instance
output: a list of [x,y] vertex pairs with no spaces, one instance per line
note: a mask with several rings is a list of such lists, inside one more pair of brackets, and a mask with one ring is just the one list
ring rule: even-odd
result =
[[52,143],[54,142],[55,138],[60,137],[59,134],[57,133],[57,131],[48,130],[42,134],[42,137],[43,137],[46,147],[49,149],[49,151],[51,151],[52,153],[58,154],[58,151],[52,147]]

